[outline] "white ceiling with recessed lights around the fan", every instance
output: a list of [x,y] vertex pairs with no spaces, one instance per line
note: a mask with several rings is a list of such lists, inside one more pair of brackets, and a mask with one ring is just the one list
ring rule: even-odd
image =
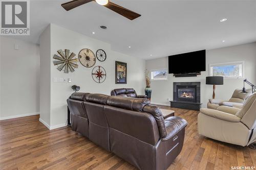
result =
[[111,1],[142,15],[133,21],[95,2],[67,12],[67,1],[31,1],[31,35],[16,38],[37,43],[55,23],[143,59],[256,41],[256,1]]

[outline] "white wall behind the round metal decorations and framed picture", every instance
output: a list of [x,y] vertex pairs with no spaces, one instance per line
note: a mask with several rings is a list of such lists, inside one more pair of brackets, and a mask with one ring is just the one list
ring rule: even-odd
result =
[[[48,33],[49,34],[49,33]],[[46,67],[51,67],[51,96],[48,101],[50,104],[50,129],[65,126],[67,122],[67,99],[73,93],[71,86],[79,85],[79,92],[103,93],[110,95],[114,88],[130,87],[135,88],[138,94],[143,94],[145,88],[144,69],[145,61],[135,57],[127,56],[111,50],[111,44],[105,43],[88,36],[70,31],[65,28],[51,24],[51,63],[44,63]],[[48,35],[41,35],[41,39]],[[73,73],[65,74],[57,70],[57,66],[53,65],[53,56],[57,54],[57,50],[69,49],[77,56],[82,48],[90,48],[94,53],[98,49],[103,49],[106,52],[107,58],[104,62],[96,61],[96,65],[103,66],[106,70],[106,80],[98,84],[92,79],[92,68],[86,68],[78,62],[78,69]],[[77,57],[76,56],[76,57]],[[47,55],[46,55],[47,57]],[[127,63],[127,84],[115,84],[115,61]],[[49,65],[47,65],[49,64]],[[41,67],[44,67],[41,63]],[[71,78],[72,83],[68,82],[53,82],[53,78]],[[46,100],[46,99],[45,99]],[[42,101],[43,102],[43,101]],[[41,108],[43,109],[43,108]]]

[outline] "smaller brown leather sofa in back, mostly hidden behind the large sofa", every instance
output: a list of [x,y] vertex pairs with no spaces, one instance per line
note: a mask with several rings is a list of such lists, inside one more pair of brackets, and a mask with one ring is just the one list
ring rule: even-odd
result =
[[133,88],[117,88],[111,91],[111,95],[147,99],[147,95],[137,95],[136,91]]

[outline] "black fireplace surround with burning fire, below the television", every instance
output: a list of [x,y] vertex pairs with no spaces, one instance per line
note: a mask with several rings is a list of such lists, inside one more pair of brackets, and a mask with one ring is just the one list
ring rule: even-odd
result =
[[170,107],[200,110],[200,82],[174,82],[174,101]]

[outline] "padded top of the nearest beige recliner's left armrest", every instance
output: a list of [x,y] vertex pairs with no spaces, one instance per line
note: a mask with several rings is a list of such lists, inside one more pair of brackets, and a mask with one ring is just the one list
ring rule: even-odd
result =
[[225,120],[227,122],[240,122],[240,120],[241,120],[241,118],[236,115],[225,113],[225,112],[222,112],[219,110],[203,108],[203,109],[200,109],[200,112],[207,116]]

